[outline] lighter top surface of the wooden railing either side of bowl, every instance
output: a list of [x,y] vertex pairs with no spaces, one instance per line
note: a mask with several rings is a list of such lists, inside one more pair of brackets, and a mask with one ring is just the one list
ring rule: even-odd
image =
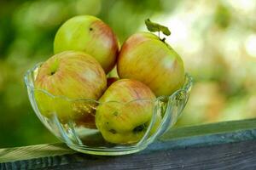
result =
[[[218,122],[191,127],[174,127],[158,141],[154,142],[154,144],[150,144],[148,149],[143,150],[139,154],[156,150],[224,144],[250,139],[256,139],[256,119]],[[5,148],[0,149],[0,164],[3,162],[72,155],[75,153],[76,151],[69,149],[63,143]]]

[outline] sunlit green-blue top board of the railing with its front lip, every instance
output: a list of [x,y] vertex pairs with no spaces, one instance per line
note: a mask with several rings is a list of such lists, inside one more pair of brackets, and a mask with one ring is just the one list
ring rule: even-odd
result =
[[[255,120],[172,128],[159,141],[150,144],[148,149],[135,155],[256,139]],[[6,167],[53,167],[55,165],[66,165],[72,160],[76,161],[77,156],[81,155],[74,153],[76,152],[68,149],[65,144],[38,144],[2,149],[0,150],[0,162],[3,163],[0,163],[0,169],[6,169]],[[91,158],[91,156],[87,157]],[[94,159],[97,156],[92,157]],[[102,156],[100,157],[102,158]]]

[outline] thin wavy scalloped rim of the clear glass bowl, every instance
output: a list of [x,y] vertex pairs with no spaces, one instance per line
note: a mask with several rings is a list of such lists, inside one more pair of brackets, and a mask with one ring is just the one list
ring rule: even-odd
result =
[[[65,99],[67,100],[68,102],[79,102],[79,101],[87,101],[87,102],[94,102],[98,105],[100,104],[105,104],[105,103],[118,103],[118,104],[123,104],[123,105],[127,105],[131,102],[137,102],[137,101],[150,101],[150,102],[155,102],[155,101],[159,101],[161,99],[168,99],[168,98],[172,98],[174,97],[175,95],[177,95],[178,93],[180,92],[185,92],[185,93],[189,93],[189,91],[191,90],[192,86],[193,86],[193,83],[194,83],[194,80],[193,80],[193,77],[191,77],[189,75],[188,72],[185,73],[185,80],[184,80],[184,83],[183,83],[183,87],[182,88],[178,88],[176,91],[174,91],[172,94],[170,95],[161,95],[161,96],[158,96],[156,97],[155,99],[133,99],[131,101],[127,101],[127,102],[121,102],[121,101],[115,101],[115,100],[109,100],[109,101],[106,101],[106,102],[100,102],[96,99],[83,99],[83,98],[78,98],[78,99],[71,99],[71,98],[68,98],[67,96],[64,96],[64,95],[55,95],[55,94],[50,94],[47,90],[44,90],[44,89],[41,89],[41,88],[34,88],[34,83],[33,81],[31,81],[31,79],[29,78],[35,71],[38,70],[39,66],[42,65],[44,62],[40,62],[36,65],[34,65],[31,69],[29,69],[28,71],[26,71],[25,73],[25,76],[24,76],[24,81],[25,81],[25,84],[26,84],[26,88],[32,90],[32,91],[39,91],[39,92],[42,92],[46,95],[48,95],[50,98],[52,99]],[[34,79],[34,77],[32,78]]]

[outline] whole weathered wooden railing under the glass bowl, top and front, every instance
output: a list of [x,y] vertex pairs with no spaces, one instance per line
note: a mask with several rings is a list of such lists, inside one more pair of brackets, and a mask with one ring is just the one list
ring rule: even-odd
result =
[[172,128],[130,156],[89,156],[65,144],[0,150],[0,169],[256,169],[256,121]]

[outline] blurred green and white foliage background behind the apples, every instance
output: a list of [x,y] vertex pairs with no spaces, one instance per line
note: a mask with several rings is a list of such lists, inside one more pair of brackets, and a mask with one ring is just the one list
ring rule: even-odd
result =
[[256,117],[255,0],[0,1],[0,148],[55,142],[28,101],[23,76],[52,54],[65,20],[93,14],[123,42],[150,18],[195,78],[177,126]]

